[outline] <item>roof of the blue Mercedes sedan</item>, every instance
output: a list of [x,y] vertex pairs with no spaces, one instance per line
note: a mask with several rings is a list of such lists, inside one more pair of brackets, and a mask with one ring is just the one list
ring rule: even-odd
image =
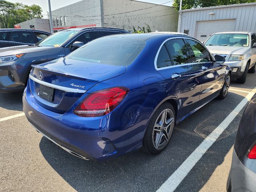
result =
[[[112,37],[124,37],[124,38],[134,38],[134,39],[138,39],[138,40],[142,40],[142,41],[147,41],[151,38],[154,37],[165,37],[167,38],[171,38],[171,37],[184,37],[185,35],[183,34],[170,34],[170,33],[130,33],[130,34],[117,34],[117,35],[112,35],[112,36],[105,36],[104,38],[112,38]],[[187,35],[186,35],[187,37]],[[190,36],[188,36],[190,37]]]

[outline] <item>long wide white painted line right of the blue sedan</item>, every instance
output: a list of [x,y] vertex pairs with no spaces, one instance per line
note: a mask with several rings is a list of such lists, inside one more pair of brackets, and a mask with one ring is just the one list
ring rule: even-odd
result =
[[[254,88],[256,89],[256,88]],[[247,102],[254,96],[254,91],[250,92],[236,108],[215,128],[215,130],[204,139],[204,141],[188,156],[188,158],[180,165],[180,167],[160,186],[157,192],[173,192],[182,180],[187,176],[190,170],[196,165],[204,153],[214,144],[222,132],[234,120]]]

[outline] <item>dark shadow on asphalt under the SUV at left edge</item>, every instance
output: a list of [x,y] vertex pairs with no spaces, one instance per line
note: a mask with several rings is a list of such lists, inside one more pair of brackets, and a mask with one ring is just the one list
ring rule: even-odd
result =
[[0,108],[22,111],[22,93],[0,93]]

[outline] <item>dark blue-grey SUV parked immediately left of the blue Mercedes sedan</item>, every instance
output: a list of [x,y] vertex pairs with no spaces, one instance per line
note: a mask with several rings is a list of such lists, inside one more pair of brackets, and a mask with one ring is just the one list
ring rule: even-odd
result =
[[23,91],[31,65],[66,56],[76,48],[101,36],[130,33],[112,28],[72,28],[48,36],[34,46],[0,49],[0,92]]

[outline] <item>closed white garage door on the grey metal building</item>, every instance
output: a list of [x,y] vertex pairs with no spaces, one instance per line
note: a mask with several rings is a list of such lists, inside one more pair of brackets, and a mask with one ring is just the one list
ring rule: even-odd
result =
[[205,41],[216,32],[235,30],[236,19],[198,21],[196,25],[196,39]]

